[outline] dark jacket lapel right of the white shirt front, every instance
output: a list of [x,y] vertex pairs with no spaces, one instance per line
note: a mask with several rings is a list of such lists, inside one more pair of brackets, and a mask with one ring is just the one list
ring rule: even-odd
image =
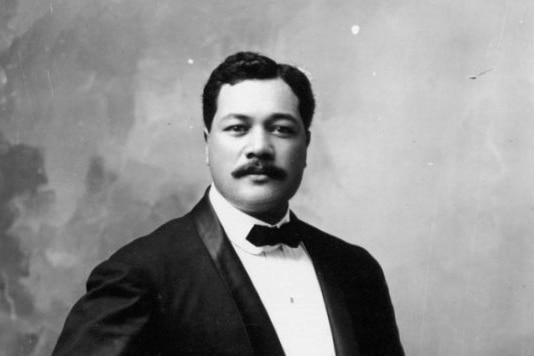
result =
[[[294,218],[293,215],[291,219]],[[298,230],[300,230],[299,233],[302,236],[304,246],[306,246],[306,250],[312,259],[315,273],[321,286],[334,338],[336,355],[358,356],[360,355],[358,343],[349,317],[349,309],[343,297],[343,290],[340,283],[338,283],[339,276],[331,267],[334,265],[334,261],[331,260],[332,256],[329,259],[328,253],[325,253],[326,246],[321,244],[321,236],[313,236],[313,232],[307,229],[300,221],[298,221]]]

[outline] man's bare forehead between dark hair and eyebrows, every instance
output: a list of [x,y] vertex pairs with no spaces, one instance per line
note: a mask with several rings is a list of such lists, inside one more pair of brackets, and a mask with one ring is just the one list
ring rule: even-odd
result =
[[273,113],[300,118],[298,98],[280,78],[224,84],[217,97],[215,119],[231,114],[262,116]]

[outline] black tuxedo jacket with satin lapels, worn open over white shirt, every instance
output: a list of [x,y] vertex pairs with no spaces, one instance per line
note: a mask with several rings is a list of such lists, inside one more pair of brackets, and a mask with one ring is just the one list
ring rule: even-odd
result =
[[[337,355],[403,355],[378,263],[296,219]],[[97,266],[53,355],[284,355],[206,196]]]

